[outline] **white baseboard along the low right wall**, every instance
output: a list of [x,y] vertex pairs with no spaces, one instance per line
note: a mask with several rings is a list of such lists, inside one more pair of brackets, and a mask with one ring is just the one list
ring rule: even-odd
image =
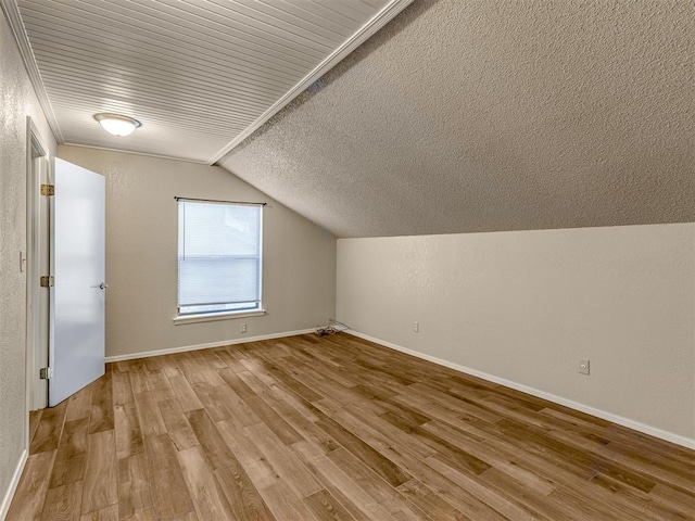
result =
[[571,399],[564,398],[561,396],[556,396],[554,394],[546,393],[545,391],[541,391],[535,387],[530,387],[521,383],[511,382],[509,380],[505,380],[504,378],[495,377],[493,374],[488,374],[486,372],[478,371],[476,369],[470,369],[465,366],[459,366],[458,364],[454,364],[452,361],[444,360],[435,356],[430,356],[424,353],[419,353],[417,351],[408,350],[401,345],[387,342],[386,340],[375,339],[374,336],[369,336],[368,334],[359,333],[353,330],[348,330],[345,332],[354,336],[368,340],[369,342],[383,345],[384,347],[389,347],[391,350],[415,356],[416,358],[421,358],[424,360],[428,360],[433,364],[438,364],[440,366],[448,367],[450,369],[465,372],[466,374],[478,377],[478,378],[481,378],[482,380],[488,380],[489,382],[498,383],[501,385],[504,385],[505,387],[510,387],[516,391],[521,391],[522,393],[527,393],[532,396],[536,396],[539,398],[547,399],[548,402],[553,402],[555,404],[563,405],[565,407],[569,407],[570,409],[579,410],[581,412],[586,412],[587,415],[602,418],[604,420],[610,421],[612,423],[617,423],[622,427],[627,427],[629,429],[633,429],[639,432],[643,432],[644,434],[648,434],[650,436],[658,437],[660,440],[666,440],[667,442],[675,443],[677,445],[681,445],[686,448],[695,449],[694,439],[690,439],[686,436],[682,436],[680,434],[674,434],[672,432],[664,431],[661,429],[647,425],[645,423],[640,423],[639,421],[634,421],[629,418],[623,418],[622,416],[617,416],[611,412],[606,412],[605,410],[596,409],[589,405],[580,404],[579,402],[573,402]]

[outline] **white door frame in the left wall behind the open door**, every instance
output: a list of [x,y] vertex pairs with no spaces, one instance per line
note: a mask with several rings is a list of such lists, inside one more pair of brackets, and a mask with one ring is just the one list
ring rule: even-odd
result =
[[[42,165],[40,164],[42,163]],[[26,441],[29,443],[28,412],[48,405],[48,381],[41,380],[37,367],[48,366],[48,331],[40,323],[41,262],[38,253],[48,255],[49,238],[41,237],[40,168],[46,169],[50,182],[49,148],[30,116],[26,123],[26,253],[21,259],[26,267]],[[43,229],[47,229],[45,227]],[[41,247],[40,241],[43,242]],[[43,274],[48,275],[48,274]],[[45,338],[42,338],[42,335]],[[39,365],[41,360],[41,365]]]

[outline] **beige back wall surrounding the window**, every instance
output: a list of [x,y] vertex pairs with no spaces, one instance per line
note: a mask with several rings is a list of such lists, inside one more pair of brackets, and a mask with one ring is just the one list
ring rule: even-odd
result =
[[[62,145],[59,155],[106,178],[106,356],[296,331],[333,316],[336,238],[223,168],[81,147]],[[267,315],[174,325],[176,195],[268,202]]]

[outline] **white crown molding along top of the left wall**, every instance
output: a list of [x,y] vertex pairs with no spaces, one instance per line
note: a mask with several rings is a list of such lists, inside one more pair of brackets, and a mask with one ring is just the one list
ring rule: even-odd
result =
[[41,79],[39,67],[36,64],[34,51],[31,50],[31,45],[29,43],[29,37],[26,34],[24,22],[22,22],[22,15],[20,14],[17,2],[16,0],[0,0],[0,7],[8,17],[8,23],[14,34],[14,39],[17,42],[20,54],[22,54],[22,60],[24,61],[24,67],[29,76],[31,87],[34,87],[36,98],[39,100],[39,105],[41,105],[46,120],[48,122],[49,127],[51,127],[55,141],[61,144],[63,142],[63,134],[61,132],[61,127],[58,125],[58,118],[53,112],[53,106],[48,99],[46,86],[43,85],[43,79]]

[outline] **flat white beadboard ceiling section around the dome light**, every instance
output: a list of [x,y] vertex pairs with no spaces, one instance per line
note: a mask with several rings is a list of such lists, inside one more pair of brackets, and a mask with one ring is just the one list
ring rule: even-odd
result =
[[59,142],[207,163],[410,1],[0,0]]

